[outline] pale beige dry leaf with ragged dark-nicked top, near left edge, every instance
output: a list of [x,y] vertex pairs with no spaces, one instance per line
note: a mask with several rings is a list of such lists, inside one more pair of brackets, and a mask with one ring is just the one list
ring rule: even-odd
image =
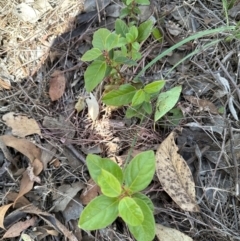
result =
[[25,137],[32,134],[41,135],[37,122],[24,115],[9,112],[2,117],[6,125],[12,128],[12,134],[18,137]]

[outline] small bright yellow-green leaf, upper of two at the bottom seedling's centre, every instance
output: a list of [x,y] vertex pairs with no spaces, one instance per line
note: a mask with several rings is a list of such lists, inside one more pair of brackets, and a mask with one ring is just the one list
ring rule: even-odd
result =
[[102,193],[107,197],[118,197],[122,192],[122,187],[118,179],[104,169],[102,169],[98,177],[98,185]]

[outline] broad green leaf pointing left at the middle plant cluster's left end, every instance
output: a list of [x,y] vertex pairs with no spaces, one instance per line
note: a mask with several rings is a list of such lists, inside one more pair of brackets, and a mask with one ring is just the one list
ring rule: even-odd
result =
[[122,106],[127,105],[132,101],[136,89],[130,85],[121,85],[118,90],[112,90],[103,96],[102,101],[107,105]]

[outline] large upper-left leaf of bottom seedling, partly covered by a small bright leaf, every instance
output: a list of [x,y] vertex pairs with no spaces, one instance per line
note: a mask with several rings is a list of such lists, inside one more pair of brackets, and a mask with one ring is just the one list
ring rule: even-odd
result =
[[102,170],[110,172],[115,178],[122,184],[123,183],[123,172],[117,163],[113,162],[108,158],[101,158],[100,156],[88,154],[86,163],[90,176],[94,182],[98,183],[98,177]]

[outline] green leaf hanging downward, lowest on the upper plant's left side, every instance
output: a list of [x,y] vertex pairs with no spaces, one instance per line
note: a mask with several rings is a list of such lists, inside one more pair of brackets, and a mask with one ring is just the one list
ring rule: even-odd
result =
[[91,92],[104,78],[107,64],[101,60],[91,63],[84,73],[85,88]]

